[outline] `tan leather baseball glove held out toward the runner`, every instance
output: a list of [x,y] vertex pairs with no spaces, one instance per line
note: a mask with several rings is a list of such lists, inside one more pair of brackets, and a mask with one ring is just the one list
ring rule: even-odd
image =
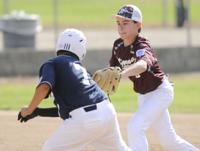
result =
[[108,95],[116,92],[121,79],[121,69],[119,67],[108,67],[97,70],[92,76],[93,80],[97,82],[99,87]]

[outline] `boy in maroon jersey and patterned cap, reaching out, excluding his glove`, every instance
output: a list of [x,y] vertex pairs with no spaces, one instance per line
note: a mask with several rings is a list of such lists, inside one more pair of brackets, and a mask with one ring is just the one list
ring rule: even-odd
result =
[[146,130],[151,127],[165,149],[199,151],[172,126],[168,107],[174,97],[173,87],[160,69],[150,42],[139,34],[140,9],[126,5],[115,17],[120,38],[114,42],[110,66],[121,67],[122,78],[129,78],[138,94],[139,108],[128,123],[129,146],[133,151],[148,151]]

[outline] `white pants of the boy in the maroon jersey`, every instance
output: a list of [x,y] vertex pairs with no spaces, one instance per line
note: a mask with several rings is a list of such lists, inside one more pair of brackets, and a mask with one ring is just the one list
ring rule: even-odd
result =
[[172,126],[167,108],[172,103],[173,95],[173,87],[167,79],[153,92],[139,94],[139,109],[128,123],[128,141],[132,151],[148,151],[145,132],[150,127],[169,151],[199,151],[179,137]]

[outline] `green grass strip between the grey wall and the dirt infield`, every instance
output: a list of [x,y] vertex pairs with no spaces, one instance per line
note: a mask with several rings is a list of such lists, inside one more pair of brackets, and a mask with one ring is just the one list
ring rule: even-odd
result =
[[[175,113],[200,113],[200,78],[173,77],[175,83],[175,99],[170,107]],[[0,109],[19,110],[29,103],[35,89],[35,81],[4,82],[0,84]],[[129,81],[122,81],[117,93],[111,96],[112,103],[118,112],[134,112],[137,110],[137,96],[132,91]],[[52,99],[42,102],[41,107],[52,106]]]

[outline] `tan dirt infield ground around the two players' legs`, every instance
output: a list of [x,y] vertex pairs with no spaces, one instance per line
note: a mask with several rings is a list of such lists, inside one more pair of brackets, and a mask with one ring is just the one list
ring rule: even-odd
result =
[[[16,120],[16,112],[0,111],[0,151],[39,151],[44,141],[62,122],[58,118],[36,118],[26,124]],[[125,140],[126,124],[131,114],[118,119]],[[177,133],[200,148],[200,114],[173,114]],[[152,132],[148,132],[150,151],[163,151]]]

